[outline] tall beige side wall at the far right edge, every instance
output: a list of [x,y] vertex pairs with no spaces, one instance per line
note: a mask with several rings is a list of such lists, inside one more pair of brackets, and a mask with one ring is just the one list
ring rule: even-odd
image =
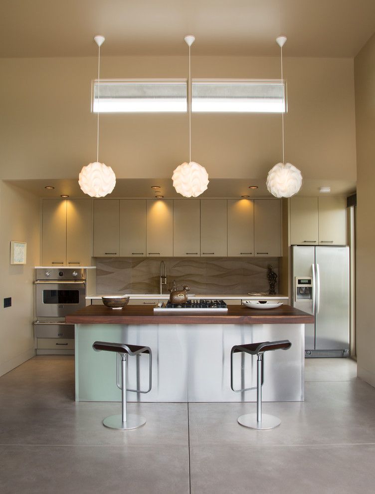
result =
[[357,120],[358,376],[375,386],[375,35],[355,58]]

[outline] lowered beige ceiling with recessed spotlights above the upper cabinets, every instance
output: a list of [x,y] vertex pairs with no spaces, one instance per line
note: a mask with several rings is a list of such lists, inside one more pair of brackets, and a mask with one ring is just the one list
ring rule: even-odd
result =
[[[25,191],[31,192],[41,198],[60,197],[61,194],[67,194],[69,197],[88,198],[80,190],[78,180],[12,180],[6,181]],[[160,186],[158,191],[151,189],[151,186]],[[249,190],[250,185],[257,185],[257,190]],[[45,186],[54,187],[53,190],[46,190]],[[303,181],[302,189],[299,196],[318,196],[319,187],[330,186],[331,195],[349,196],[356,191],[356,182],[348,180],[318,180],[306,179]],[[116,187],[109,196],[111,199],[118,197],[138,197],[153,198],[161,194],[165,198],[182,198],[177,194],[172,185],[171,179],[119,179],[116,181]],[[203,192],[200,198],[213,197],[240,197],[249,195],[252,197],[270,196],[266,188],[266,182],[259,179],[211,179],[208,189]]]

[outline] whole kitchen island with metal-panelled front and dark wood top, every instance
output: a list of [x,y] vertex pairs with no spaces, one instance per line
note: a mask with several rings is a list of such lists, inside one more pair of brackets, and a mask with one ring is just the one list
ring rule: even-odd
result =
[[[116,354],[95,352],[94,341],[149,346],[153,353],[152,389],[128,392],[129,401],[256,401],[256,356],[234,354],[234,389],[230,388],[232,346],[288,339],[287,351],[264,358],[264,401],[304,400],[304,325],[313,316],[282,305],[275,309],[228,306],[224,314],[155,314],[153,307],[110,309],[89,305],[66,316],[75,324],[76,401],[120,401]],[[147,389],[148,355],[129,357],[128,388]]]

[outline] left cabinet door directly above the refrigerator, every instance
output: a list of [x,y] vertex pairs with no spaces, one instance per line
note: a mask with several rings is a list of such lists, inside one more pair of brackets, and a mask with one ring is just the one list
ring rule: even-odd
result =
[[290,200],[291,245],[318,245],[318,198],[292,197]]

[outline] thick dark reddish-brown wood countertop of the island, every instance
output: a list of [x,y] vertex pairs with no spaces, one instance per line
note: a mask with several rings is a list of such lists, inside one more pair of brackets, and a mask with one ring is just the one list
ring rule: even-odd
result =
[[164,314],[154,307],[126,305],[110,309],[105,305],[88,305],[65,317],[68,324],[312,324],[314,316],[290,305],[275,309],[250,309],[229,305],[228,312],[218,314]]

